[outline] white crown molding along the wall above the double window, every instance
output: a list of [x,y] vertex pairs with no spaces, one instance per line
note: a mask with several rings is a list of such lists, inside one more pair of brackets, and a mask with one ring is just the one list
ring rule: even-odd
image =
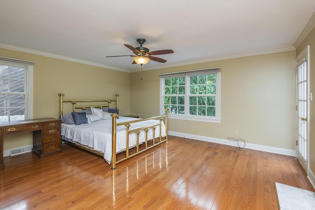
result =
[[[253,52],[241,53],[241,54],[235,54],[235,55],[229,55],[229,56],[218,56],[218,57],[212,57],[208,59],[193,60],[189,62],[173,63],[169,65],[163,65],[160,67],[142,69],[142,71],[148,71],[148,70],[154,70],[154,69],[160,69],[160,68],[170,68],[170,67],[175,67],[175,66],[189,65],[189,64],[196,64],[196,63],[203,63],[203,62],[211,62],[211,61],[216,61],[216,60],[227,60],[227,59],[235,59],[235,58],[248,57],[248,56],[270,54],[270,53],[280,53],[280,52],[291,51],[291,50],[296,50],[296,49],[294,46],[278,47],[278,48],[272,48],[268,50],[253,51]],[[130,70],[130,73],[137,72],[137,71],[141,71],[141,70],[139,69]]]

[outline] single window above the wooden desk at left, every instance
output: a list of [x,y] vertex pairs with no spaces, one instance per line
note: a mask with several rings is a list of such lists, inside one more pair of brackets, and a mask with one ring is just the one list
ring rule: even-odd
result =
[[0,57],[0,121],[32,119],[32,65]]

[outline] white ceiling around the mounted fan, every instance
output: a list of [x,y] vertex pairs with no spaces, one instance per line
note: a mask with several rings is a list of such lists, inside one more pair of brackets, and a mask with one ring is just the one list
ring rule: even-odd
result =
[[142,70],[285,49],[314,12],[315,0],[1,0],[0,43],[132,72],[131,57],[105,56],[133,55],[137,38],[174,50]]

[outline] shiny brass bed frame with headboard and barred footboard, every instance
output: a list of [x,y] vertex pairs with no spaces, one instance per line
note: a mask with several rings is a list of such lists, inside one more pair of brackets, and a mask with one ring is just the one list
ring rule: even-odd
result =
[[[119,94],[115,94],[116,99],[92,99],[92,100],[64,100],[63,96],[64,93],[59,93],[59,99],[60,99],[60,106],[59,106],[59,119],[61,119],[63,117],[63,103],[71,103],[72,104],[72,111],[75,112],[76,109],[82,109],[82,110],[86,110],[87,108],[91,108],[91,107],[95,107],[95,108],[111,108],[111,103],[115,102],[116,105],[116,109],[118,109],[118,96]],[[81,103],[97,103],[97,102],[102,102],[105,103],[103,105],[89,105],[89,106],[85,106],[85,105],[80,105],[78,106],[78,104]],[[161,143],[167,143],[167,129],[168,129],[168,108],[165,109],[165,115],[160,115],[157,117],[152,117],[152,118],[147,118],[147,119],[139,119],[139,120],[132,120],[132,121],[127,121],[127,122],[121,122],[121,123],[117,123],[117,117],[118,115],[116,113],[111,114],[112,117],[112,156],[111,156],[111,169],[116,169],[116,164],[120,163],[126,159],[129,159],[143,151],[149,150],[153,147],[158,146]],[[154,124],[154,125],[149,125],[149,126],[144,126],[144,127],[140,127],[137,129],[129,129],[130,124],[134,123],[134,122],[140,122],[140,121],[146,121],[146,120],[156,120],[158,119],[159,122]],[[162,120],[165,120],[165,133],[166,136],[162,138],[161,136],[161,126],[162,126]],[[126,157],[117,160],[117,154],[116,154],[116,130],[117,130],[117,126],[122,126],[125,125],[126,127]],[[156,138],[155,138],[155,129],[157,128],[157,126],[159,126],[159,137],[158,137],[158,142],[156,143]],[[153,139],[152,139],[152,145],[148,147],[148,131],[149,128],[153,129]],[[143,130],[145,132],[145,142],[144,142],[144,149],[139,150],[139,134],[141,132],[141,130]],[[133,154],[129,154],[129,134],[130,133],[135,133],[136,134],[136,146],[135,146],[135,151]],[[151,140],[151,139],[150,139]],[[149,141],[150,141],[149,140]],[[98,154],[100,156],[104,156],[104,153],[101,151],[96,151],[93,150],[93,148],[90,148],[88,146],[79,144],[79,143],[72,143],[72,145],[81,148],[83,150],[88,150],[90,152],[93,152],[95,154]]]

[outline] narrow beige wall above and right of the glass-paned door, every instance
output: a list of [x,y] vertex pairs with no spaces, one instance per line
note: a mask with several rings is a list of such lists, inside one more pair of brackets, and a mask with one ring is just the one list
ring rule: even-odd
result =
[[296,55],[299,55],[310,45],[310,92],[313,92],[313,101],[310,101],[310,169],[315,173],[315,28],[308,34],[300,46],[297,46]]

